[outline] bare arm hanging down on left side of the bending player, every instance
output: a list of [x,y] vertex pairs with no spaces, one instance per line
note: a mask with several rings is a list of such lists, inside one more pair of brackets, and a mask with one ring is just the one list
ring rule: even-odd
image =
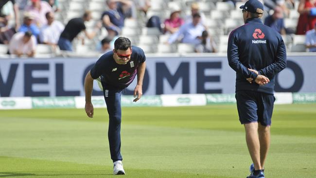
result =
[[86,105],[85,110],[88,117],[93,117],[93,105],[91,103],[91,95],[93,89],[93,78],[91,77],[90,71],[87,73],[85,78],[85,94],[86,94]]

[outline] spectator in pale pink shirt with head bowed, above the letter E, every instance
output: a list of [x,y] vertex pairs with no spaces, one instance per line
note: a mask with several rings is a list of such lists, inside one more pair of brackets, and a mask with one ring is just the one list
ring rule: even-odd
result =
[[36,50],[36,39],[32,32],[18,32],[9,43],[9,53],[15,54],[18,57],[27,55],[33,57]]

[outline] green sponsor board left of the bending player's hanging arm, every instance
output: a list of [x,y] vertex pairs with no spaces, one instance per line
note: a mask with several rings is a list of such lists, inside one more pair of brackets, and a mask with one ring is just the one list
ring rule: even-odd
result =
[[75,108],[74,97],[34,97],[32,108]]

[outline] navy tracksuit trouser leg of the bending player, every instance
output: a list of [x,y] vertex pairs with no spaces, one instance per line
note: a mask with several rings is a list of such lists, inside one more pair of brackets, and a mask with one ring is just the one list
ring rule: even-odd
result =
[[122,90],[104,89],[106,108],[109,116],[108,142],[113,162],[123,160],[121,155],[121,93]]

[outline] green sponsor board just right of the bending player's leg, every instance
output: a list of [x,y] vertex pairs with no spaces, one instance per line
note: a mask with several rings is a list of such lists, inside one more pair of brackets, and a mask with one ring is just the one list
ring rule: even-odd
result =
[[123,107],[160,107],[162,106],[160,96],[142,96],[137,102],[133,102],[133,96],[122,96]]

